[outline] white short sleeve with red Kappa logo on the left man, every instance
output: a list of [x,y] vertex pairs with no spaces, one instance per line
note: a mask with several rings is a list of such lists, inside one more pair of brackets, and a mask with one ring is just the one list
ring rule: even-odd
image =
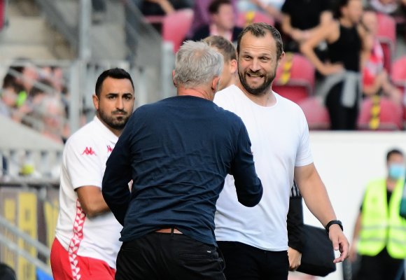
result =
[[92,141],[73,138],[66,143],[64,161],[74,189],[81,186],[102,188],[103,166]]

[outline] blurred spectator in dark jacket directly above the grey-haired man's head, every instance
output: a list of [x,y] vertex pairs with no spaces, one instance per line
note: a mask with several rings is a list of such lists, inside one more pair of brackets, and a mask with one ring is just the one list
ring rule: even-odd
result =
[[200,41],[207,36],[223,36],[229,41],[237,41],[241,27],[235,26],[235,10],[230,0],[214,0],[209,5],[210,24],[197,29],[193,41]]

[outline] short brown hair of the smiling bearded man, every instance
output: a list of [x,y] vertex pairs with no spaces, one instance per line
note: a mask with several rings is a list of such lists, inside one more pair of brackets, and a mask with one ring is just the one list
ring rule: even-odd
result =
[[239,36],[237,38],[237,53],[239,54],[239,44],[241,43],[241,38],[245,34],[247,34],[249,32],[249,33],[253,34],[253,36],[255,36],[255,37],[263,37],[263,36],[265,36],[265,34],[267,34],[267,31],[275,39],[276,56],[277,56],[277,59],[279,59],[279,57],[281,57],[282,52],[283,52],[283,43],[282,43],[281,34],[279,33],[278,29],[276,29],[272,25],[267,25],[265,22],[251,23],[251,25],[248,25],[241,31],[241,33],[239,34]]

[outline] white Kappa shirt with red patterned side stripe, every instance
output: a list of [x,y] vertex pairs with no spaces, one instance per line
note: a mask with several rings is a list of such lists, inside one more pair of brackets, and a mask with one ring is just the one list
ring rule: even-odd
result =
[[80,255],[104,260],[114,269],[123,227],[111,212],[87,218],[75,190],[80,186],[102,188],[106,161],[117,140],[118,137],[94,117],[66,142],[56,228],[56,237],[71,258]]

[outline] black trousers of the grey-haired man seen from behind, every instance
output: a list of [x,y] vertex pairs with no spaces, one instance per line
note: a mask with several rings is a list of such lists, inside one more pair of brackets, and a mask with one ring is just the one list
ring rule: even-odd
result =
[[124,242],[116,280],[225,280],[216,246],[186,235],[152,232]]

